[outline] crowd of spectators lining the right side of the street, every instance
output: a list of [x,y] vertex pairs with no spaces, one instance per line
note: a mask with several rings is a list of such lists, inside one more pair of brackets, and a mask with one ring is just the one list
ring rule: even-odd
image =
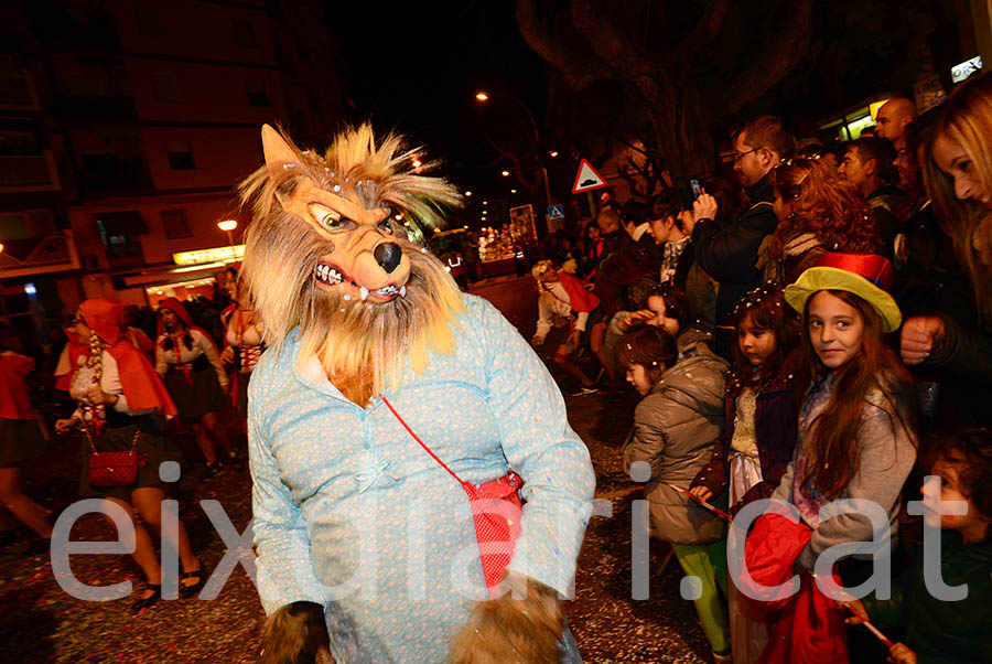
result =
[[[877,118],[830,146],[754,118],[733,137],[737,191],[709,178],[691,199],[672,188],[607,201],[535,251],[532,343],[559,344],[574,396],[616,399],[626,374],[644,397],[625,468],[647,482],[651,534],[701,582],[715,661],[967,662],[992,645],[988,607],[926,592],[924,520],[906,510],[923,495],[944,574],[990,589],[992,77],[918,116],[891,99]],[[921,488],[928,474],[945,489]],[[948,495],[967,516],[941,515],[935,501]],[[752,531],[764,569],[781,564],[807,583],[816,557],[845,544],[834,575],[867,579],[871,565],[850,557],[873,550],[867,517],[819,515],[830,500],[864,499],[888,514],[899,544],[882,555],[903,593],[862,601],[804,586],[791,604],[755,611],[741,579],[727,581],[725,532],[703,510],[768,497],[795,505],[801,528],[791,556],[787,529],[774,536],[783,550],[764,544],[767,523]],[[892,642],[872,650],[845,620],[884,624]]]

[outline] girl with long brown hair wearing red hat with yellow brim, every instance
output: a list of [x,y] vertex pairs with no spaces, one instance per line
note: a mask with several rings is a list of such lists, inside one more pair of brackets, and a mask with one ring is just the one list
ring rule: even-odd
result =
[[[795,561],[804,572],[811,574],[820,554],[838,544],[863,543],[849,556],[878,546],[881,534],[866,514],[821,517],[833,501],[874,503],[888,515],[889,533],[896,531],[917,437],[914,388],[883,342],[902,322],[887,292],[892,279],[892,265],[882,256],[828,253],[785,289],[786,301],[802,313],[812,382],[799,409],[796,454],[773,499],[791,502],[812,529]],[[848,586],[861,571],[841,561]]]

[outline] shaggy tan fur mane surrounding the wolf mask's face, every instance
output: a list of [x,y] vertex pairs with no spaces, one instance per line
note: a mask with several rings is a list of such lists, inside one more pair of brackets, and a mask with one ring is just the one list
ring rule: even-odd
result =
[[[337,137],[323,157],[301,151],[283,135],[292,159],[269,163],[241,183],[242,205],[252,218],[246,234],[242,272],[255,308],[266,322],[266,341],[280,345],[299,326],[298,363],[317,357],[328,379],[360,406],[420,374],[431,352],[454,350],[455,315],[461,293],[441,263],[400,236],[396,243],[411,264],[406,297],[388,302],[347,299],[321,288],[313,278],[322,256],[346,250],[319,234],[313,225],[284,210],[301,182],[348,196],[368,210],[386,204],[407,218],[435,226],[442,205],[457,205],[455,189],[440,178],[412,170],[419,149],[403,150],[399,137],[378,147],[371,128],[363,125]],[[268,151],[267,151],[268,157]],[[430,165],[430,164],[429,164]]]

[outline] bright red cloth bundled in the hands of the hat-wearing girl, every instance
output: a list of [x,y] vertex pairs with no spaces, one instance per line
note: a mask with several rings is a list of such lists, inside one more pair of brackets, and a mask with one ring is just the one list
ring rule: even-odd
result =
[[[848,631],[843,613],[820,591],[812,575],[800,575],[799,591],[791,597],[781,597],[783,593],[769,597],[768,590],[757,587],[787,582],[795,574],[796,559],[812,536],[812,529],[802,522],[775,512],[759,516],[747,536],[744,563],[753,583],[743,578],[737,580],[742,590],[765,598],[766,610],[778,612],[772,639],[757,664],[847,664]],[[833,580],[841,585],[837,574]]]

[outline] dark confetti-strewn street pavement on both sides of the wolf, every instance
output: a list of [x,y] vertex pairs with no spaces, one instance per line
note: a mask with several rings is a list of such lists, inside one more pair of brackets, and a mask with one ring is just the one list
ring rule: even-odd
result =
[[[537,291],[533,280],[500,277],[473,285],[520,330],[533,334]],[[553,342],[551,342],[553,343]],[[589,447],[596,471],[599,510],[579,559],[575,599],[565,611],[583,660],[589,663],[710,661],[709,646],[692,603],[679,596],[681,570],[669,547],[651,543],[647,599],[632,599],[630,515],[640,490],[623,472],[619,453],[633,421],[636,394],[618,401],[603,396],[571,397],[574,379],[560,375],[550,361],[553,347],[538,349],[565,394],[569,420]],[[585,365],[594,373],[594,360]],[[195,446],[181,440],[196,458]],[[79,441],[54,440],[44,457],[25,469],[26,492],[52,508],[53,517],[76,500],[82,468]],[[202,480],[194,468],[179,485],[181,517],[193,548],[207,570],[215,570],[229,549],[237,549],[251,515],[251,480],[231,469]],[[222,522],[204,512],[203,501],[224,507]],[[215,517],[216,518],[216,517]],[[225,536],[218,531],[225,531]],[[116,534],[101,517],[80,517],[72,540],[109,540]],[[230,559],[230,558],[228,558]],[[141,578],[127,556],[74,555],[75,576],[84,583],[108,586]],[[211,601],[161,601],[142,615],[130,614],[131,599],[89,602],[75,599],[55,582],[46,554],[15,543],[0,549],[0,663],[33,664],[249,664],[256,661],[263,613],[241,566]],[[439,649],[439,653],[442,652]]]

